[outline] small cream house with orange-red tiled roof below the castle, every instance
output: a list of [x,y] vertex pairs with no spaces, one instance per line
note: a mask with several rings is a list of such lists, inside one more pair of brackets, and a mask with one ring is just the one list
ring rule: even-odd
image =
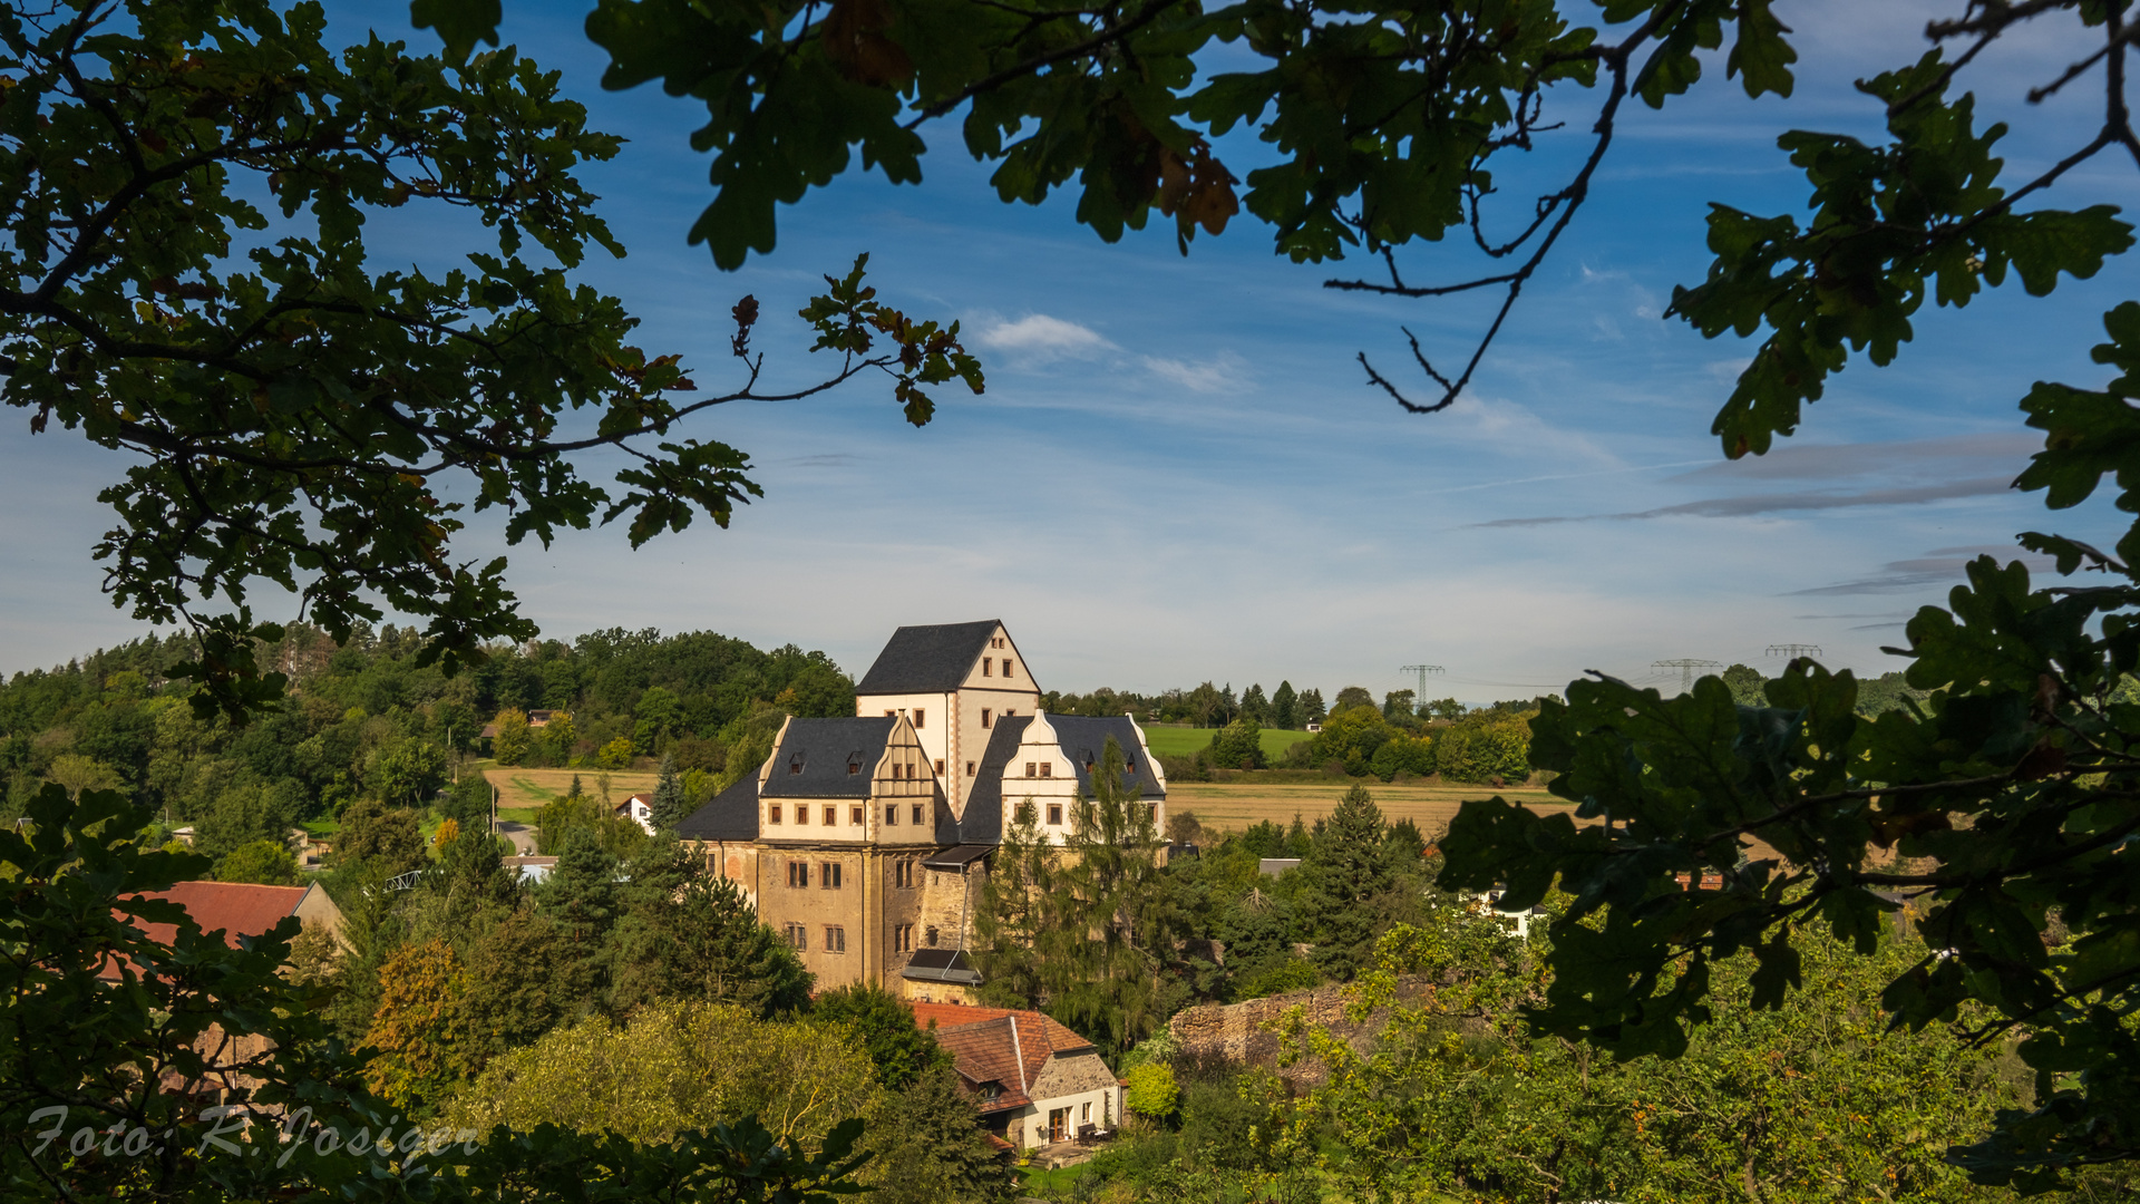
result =
[[935,1024],[959,1086],[991,1133],[1017,1148],[1074,1142],[1115,1129],[1121,1084],[1100,1050],[1057,1020],[1012,1007],[914,1003],[914,1022]]

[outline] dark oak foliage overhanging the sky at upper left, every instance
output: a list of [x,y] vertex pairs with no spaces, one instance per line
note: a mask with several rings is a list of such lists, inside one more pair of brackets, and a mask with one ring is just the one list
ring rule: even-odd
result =
[[[39,116],[6,124],[9,216],[49,231],[9,251],[6,398],[36,433],[58,418],[128,452],[98,551],[113,600],[190,621],[201,656],[171,673],[225,709],[282,681],[253,656],[280,634],[246,608],[263,578],[304,576],[304,611],[336,638],[383,606],[417,615],[424,660],[447,668],[535,634],[503,559],[454,559],[464,503],[441,482],[509,508],[516,544],[625,516],[642,544],[698,514],[725,525],[758,495],[743,452],[678,437],[691,413],[882,371],[924,424],[933,386],[980,390],[957,330],[877,302],[860,264],[805,311],[839,358],[826,377],[760,390],[745,298],[738,379],[700,390],[676,356],[625,343],[636,321],[614,298],[574,283],[588,244],[623,255],[576,178],[618,139],[586,129],[556,75],[509,49],[441,62],[370,39],[336,56],[323,30],[310,6],[197,0],[68,2],[0,30],[9,107]],[[486,238],[445,274],[370,272],[364,219],[404,206],[467,210]],[[567,409],[603,418],[561,424]],[[633,450],[616,495],[576,469],[591,448]],[[205,596],[235,611],[199,615]]]

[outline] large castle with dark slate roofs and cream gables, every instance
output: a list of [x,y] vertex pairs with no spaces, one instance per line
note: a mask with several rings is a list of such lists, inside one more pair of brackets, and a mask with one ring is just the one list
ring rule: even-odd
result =
[[1128,716],[1040,713],[999,621],[899,628],[856,686],[856,716],[790,718],[773,754],[678,825],[802,958],[820,988],[873,981],[965,1003],[989,857],[1017,808],[1057,842],[1106,737],[1124,784],[1166,823],[1166,780]]

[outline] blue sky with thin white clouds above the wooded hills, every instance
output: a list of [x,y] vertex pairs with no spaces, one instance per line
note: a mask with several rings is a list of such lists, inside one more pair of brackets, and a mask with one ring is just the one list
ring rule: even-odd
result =
[[[822,647],[860,673],[899,623],[1002,617],[1044,688],[1156,690],[1278,679],[1331,692],[1447,666],[1436,694],[1526,696],[1590,671],[1678,683],[1665,658],[1763,658],[1813,643],[1832,666],[1898,668],[1879,651],[1939,602],[1960,563],[2007,555],[2057,525],[2112,531],[2108,506],[2046,518],[2005,488],[2035,446],[2016,401],[2035,379],[2095,383],[2104,308],[2134,266],[2018,287],[1967,311],[1926,311],[1890,368],[1853,364],[1798,439],[1727,465],[1710,418],[1751,343],[1661,321],[1701,279],[1708,201],[1795,210],[1804,184],[1780,129],[1877,133],[1849,79],[1922,51],[1926,4],[1780,4],[1800,30],[1800,92],[1748,103],[1721,64],[1663,114],[1629,109],[1592,204],[1528,289],[1453,411],[1400,413],[1355,362],[1404,364],[1400,323],[1430,351],[1468,351],[1485,298],[1402,302],[1320,283],[1355,266],[1295,266],[1241,219],[1183,259],[1173,231],[1104,244],[1074,197],[1012,208],[954,126],[933,131],[924,184],[858,171],[781,212],[779,251],[717,272],[685,231],[708,199],[689,103],[610,94],[580,36],[584,9],[509,2],[507,36],[565,71],[595,124],[631,144],[588,171],[631,249],[586,279],[644,319],[642,345],[683,351],[713,386],[728,308],[764,302],[777,371],[813,371],[792,315],[856,253],[895,304],[957,317],[989,371],[978,398],[944,392],[927,428],[888,390],[852,386],[794,405],[723,407],[698,433],[749,450],[764,501],[728,531],[702,523],[633,553],[621,531],[514,551],[514,583],[546,634],[625,626],[719,630]],[[340,4],[345,39],[407,30],[407,4]],[[2016,169],[2048,163],[2086,122],[2086,96],[2020,103],[2067,49],[2039,34],[1969,77],[1980,111],[2014,122]],[[1573,129],[1588,105],[1571,96]],[[1564,146],[1575,148],[1566,135]],[[1245,176],[1263,148],[1228,139]],[[1541,171],[1549,163],[1539,165]],[[2129,169],[2129,167],[2127,167]],[[2119,199],[2129,176],[2091,165],[2050,204]],[[1541,176],[1543,178],[1543,176]],[[1504,221],[1526,204],[1515,197]],[[1166,225],[1166,223],[1158,223]],[[374,225],[381,261],[452,261],[449,225]],[[1406,253],[1412,279],[1455,279],[1459,249]],[[105,527],[105,452],[68,435],[0,439],[0,671],[54,664],[139,634],[98,593],[88,546]],[[591,461],[603,471],[601,461]],[[606,473],[603,473],[606,476]],[[496,544],[471,529],[464,553]],[[274,587],[270,587],[274,589]],[[274,613],[276,600],[259,598]]]

